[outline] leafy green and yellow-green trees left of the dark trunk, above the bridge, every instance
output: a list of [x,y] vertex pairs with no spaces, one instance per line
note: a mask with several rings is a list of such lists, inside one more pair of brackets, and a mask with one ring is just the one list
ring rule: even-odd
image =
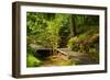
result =
[[68,25],[69,14],[28,12],[26,16],[28,43],[57,48],[61,41],[59,31]]

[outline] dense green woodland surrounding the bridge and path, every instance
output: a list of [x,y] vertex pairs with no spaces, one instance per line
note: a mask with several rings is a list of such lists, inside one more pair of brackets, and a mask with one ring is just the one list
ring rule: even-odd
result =
[[26,42],[28,67],[44,61],[43,57],[35,56],[37,48],[68,48],[87,54],[98,64],[99,15],[28,12]]

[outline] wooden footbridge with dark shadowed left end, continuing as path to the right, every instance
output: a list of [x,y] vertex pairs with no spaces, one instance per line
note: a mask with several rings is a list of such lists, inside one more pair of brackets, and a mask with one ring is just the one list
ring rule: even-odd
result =
[[[52,53],[51,53],[52,52]],[[80,62],[80,65],[94,65],[95,62],[87,54],[78,53],[69,50],[68,48],[57,48],[53,53],[53,49],[48,48],[41,48],[37,50],[38,55],[42,55],[44,58],[51,55],[58,55],[61,58],[67,60],[74,58]],[[36,55],[37,55],[36,53]]]

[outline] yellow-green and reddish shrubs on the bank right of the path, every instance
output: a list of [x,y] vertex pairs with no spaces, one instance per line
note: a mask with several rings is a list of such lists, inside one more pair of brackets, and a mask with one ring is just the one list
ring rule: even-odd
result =
[[72,37],[67,46],[70,50],[88,54],[94,61],[99,61],[99,34],[96,31]]

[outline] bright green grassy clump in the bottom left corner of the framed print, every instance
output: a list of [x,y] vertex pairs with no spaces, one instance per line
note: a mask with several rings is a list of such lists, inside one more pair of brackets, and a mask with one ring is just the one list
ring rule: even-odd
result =
[[26,67],[38,67],[41,62],[42,61],[33,55],[28,55],[26,57]]

